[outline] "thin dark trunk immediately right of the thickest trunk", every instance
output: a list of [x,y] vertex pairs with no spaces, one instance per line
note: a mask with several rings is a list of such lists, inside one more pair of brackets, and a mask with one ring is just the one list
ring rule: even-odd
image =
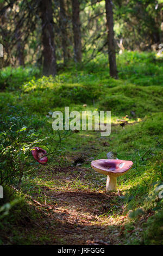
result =
[[60,29],[61,29],[61,40],[62,50],[64,53],[64,64],[68,61],[68,34],[67,34],[67,17],[65,10],[65,0],[60,0]]

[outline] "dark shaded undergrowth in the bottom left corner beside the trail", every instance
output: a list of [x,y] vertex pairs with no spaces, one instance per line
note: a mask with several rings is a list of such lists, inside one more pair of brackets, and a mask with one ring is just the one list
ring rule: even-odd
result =
[[[30,203],[30,204],[29,204]],[[31,245],[37,243],[37,220],[41,212],[28,202],[21,192],[4,187],[4,198],[0,204],[0,245]],[[39,229],[39,241],[42,245],[49,242],[46,228]]]

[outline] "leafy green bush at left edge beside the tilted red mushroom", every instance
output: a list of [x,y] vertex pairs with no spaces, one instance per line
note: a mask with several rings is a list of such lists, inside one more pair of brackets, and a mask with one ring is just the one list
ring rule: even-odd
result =
[[[16,110],[19,111],[19,116],[16,115]],[[23,177],[36,172],[40,167],[32,157],[32,148],[42,145],[48,149],[48,154],[58,154],[61,142],[67,134],[53,130],[49,132],[48,118],[40,120],[35,115],[23,116],[23,111],[12,106],[9,113],[8,116],[3,116],[0,123],[0,184],[20,185]],[[49,136],[42,135],[43,130]]]

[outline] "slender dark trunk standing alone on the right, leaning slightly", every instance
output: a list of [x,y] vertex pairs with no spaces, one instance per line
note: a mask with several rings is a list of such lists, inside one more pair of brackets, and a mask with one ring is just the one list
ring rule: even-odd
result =
[[105,0],[106,8],[106,28],[108,31],[108,54],[109,54],[109,66],[110,66],[110,76],[118,78],[117,65],[116,65],[116,51],[115,51],[115,41],[114,41],[114,21],[112,13],[112,2],[111,0]]

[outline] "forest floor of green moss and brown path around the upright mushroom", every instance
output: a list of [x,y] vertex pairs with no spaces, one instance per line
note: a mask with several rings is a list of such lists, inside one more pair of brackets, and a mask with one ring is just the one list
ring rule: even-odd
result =
[[[162,200],[155,188],[162,182],[163,63],[153,54],[125,54],[118,81],[98,60],[85,71],[62,71],[55,80],[33,77],[19,91],[9,84],[1,92],[4,113],[15,106],[16,115],[20,106],[36,120],[47,115],[49,126],[37,127],[44,137],[54,132],[51,113],[64,106],[70,111],[111,110],[110,136],[72,132],[45,166],[23,176],[17,192],[5,188],[22,199],[0,222],[2,245],[162,244]],[[117,119],[124,117],[127,123],[121,126]],[[51,141],[53,150],[57,139]],[[91,161],[106,159],[108,152],[134,164],[117,179],[117,191],[106,193],[106,176],[96,173]]]

